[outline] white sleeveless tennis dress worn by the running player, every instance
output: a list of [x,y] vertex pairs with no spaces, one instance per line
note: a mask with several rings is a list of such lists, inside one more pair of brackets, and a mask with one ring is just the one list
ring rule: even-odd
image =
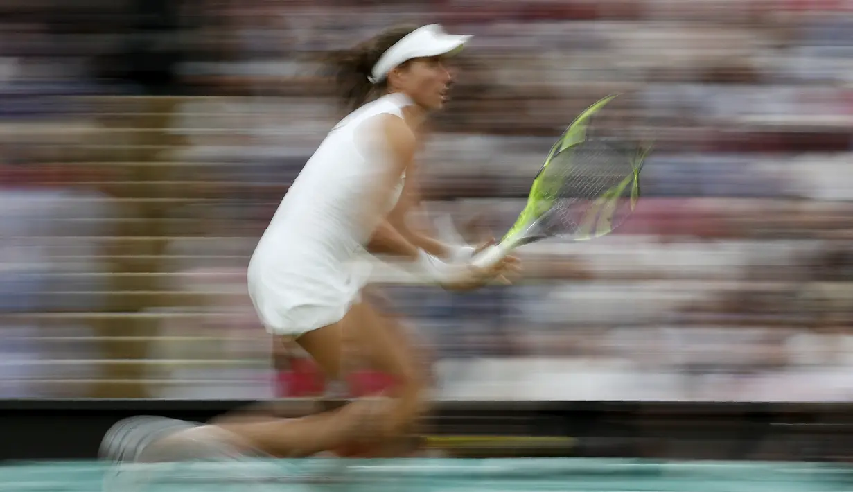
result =
[[331,325],[360,300],[370,267],[359,258],[378,225],[365,222],[365,205],[389,165],[387,154],[368,148],[363,124],[383,113],[403,118],[403,107],[411,104],[407,96],[390,94],[350,113],[281,200],[247,272],[252,304],[270,333],[298,337]]

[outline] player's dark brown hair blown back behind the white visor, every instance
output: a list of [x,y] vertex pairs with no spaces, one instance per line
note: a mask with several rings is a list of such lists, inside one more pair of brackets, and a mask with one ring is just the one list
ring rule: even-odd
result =
[[349,111],[361,107],[387,89],[387,79],[379,84],[368,80],[380,56],[397,41],[415,31],[417,26],[398,26],[386,29],[355,48],[333,53],[328,58],[329,71],[334,77],[335,92]]

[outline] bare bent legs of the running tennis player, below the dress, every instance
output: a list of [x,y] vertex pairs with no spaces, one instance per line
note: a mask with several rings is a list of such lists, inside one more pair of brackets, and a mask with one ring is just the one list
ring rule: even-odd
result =
[[341,378],[345,372],[345,347],[353,347],[367,357],[371,366],[397,379],[396,399],[391,405],[359,400],[331,412],[299,419],[260,414],[255,418],[226,417],[213,422],[235,436],[240,445],[274,456],[308,456],[340,449],[364,438],[373,441],[377,437],[399,437],[424,411],[421,394],[427,378],[416,362],[414,350],[397,325],[368,303],[352,306],[343,320],[305,333],[296,341],[328,379]]

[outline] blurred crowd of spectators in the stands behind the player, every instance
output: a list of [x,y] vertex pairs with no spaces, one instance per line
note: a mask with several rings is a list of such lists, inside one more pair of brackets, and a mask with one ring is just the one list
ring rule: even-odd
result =
[[[378,264],[436,396],[853,400],[853,5],[843,0],[6,0],[0,397],[322,391],[258,326],[248,255],[340,114],[321,61],[475,35],[424,223],[505,230],[554,137],[653,139],[634,217],[451,294]],[[393,262],[391,262],[393,263]],[[353,391],[386,385],[357,374]]]

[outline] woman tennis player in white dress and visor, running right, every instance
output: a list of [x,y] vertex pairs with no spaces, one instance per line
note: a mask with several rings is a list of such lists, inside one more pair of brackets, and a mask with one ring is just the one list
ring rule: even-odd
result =
[[334,57],[339,95],[351,113],[328,133],[281,200],[248,268],[252,303],[270,333],[294,339],[330,380],[342,379],[345,345],[355,344],[375,368],[397,379],[393,397],[300,419],[223,419],[156,432],[157,425],[129,431],[134,425],[125,423],[107,433],[102,451],[108,457],[139,460],[142,435],[161,447],[217,442],[238,454],[299,457],[411,430],[425,410],[427,374],[394,321],[362,295],[370,274],[362,261],[368,248],[406,258],[421,275],[455,290],[483,286],[516,269],[512,257],[493,269],[476,269],[473,246],[445,245],[405,220],[416,205],[413,159],[421,125],[444,107],[453,81],[445,58],[469,38],[438,25],[392,28]]

